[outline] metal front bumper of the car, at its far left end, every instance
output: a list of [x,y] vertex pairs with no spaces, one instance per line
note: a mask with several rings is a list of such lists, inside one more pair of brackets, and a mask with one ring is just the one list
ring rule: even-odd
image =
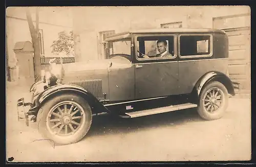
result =
[[[32,103],[25,103],[24,98],[20,98],[17,101],[17,116],[18,116],[18,121],[19,120],[25,120],[25,123],[27,126],[29,126],[29,121],[34,121],[35,120],[35,115],[33,111],[30,111],[30,109],[25,108],[26,106],[30,106],[30,108],[33,107]],[[29,118],[29,116],[32,115],[32,117]]]

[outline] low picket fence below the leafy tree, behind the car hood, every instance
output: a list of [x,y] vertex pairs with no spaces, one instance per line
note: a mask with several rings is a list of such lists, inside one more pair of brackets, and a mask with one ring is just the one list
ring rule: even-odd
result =
[[[60,61],[62,60],[62,63],[73,63],[75,62],[74,57],[41,57],[41,69],[45,71],[49,71],[50,68],[50,62],[53,61],[56,64],[60,64]],[[55,60],[53,60],[55,59]]]

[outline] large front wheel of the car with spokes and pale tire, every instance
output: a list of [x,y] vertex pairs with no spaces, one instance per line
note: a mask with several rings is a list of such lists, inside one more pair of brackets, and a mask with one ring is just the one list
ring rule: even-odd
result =
[[[72,109],[69,110],[70,108]],[[40,108],[37,114],[39,133],[44,139],[53,141],[54,145],[78,142],[87,134],[91,123],[91,107],[86,100],[76,94],[65,93],[53,97]]]

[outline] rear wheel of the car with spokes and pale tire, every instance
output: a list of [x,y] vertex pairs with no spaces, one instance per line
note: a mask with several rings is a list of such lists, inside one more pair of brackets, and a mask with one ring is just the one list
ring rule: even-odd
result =
[[[215,96],[212,96],[213,93]],[[223,116],[227,109],[228,91],[218,81],[208,83],[202,89],[199,98],[198,113],[204,120],[217,120]]]

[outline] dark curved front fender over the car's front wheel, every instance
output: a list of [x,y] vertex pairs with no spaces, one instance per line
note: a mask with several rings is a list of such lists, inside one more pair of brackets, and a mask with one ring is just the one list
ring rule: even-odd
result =
[[57,96],[58,94],[65,92],[77,93],[79,96],[86,99],[92,107],[93,114],[101,112],[110,113],[110,111],[107,108],[105,108],[104,105],[97,98],[95,98],[92,93],[88,92],[83,87],[74,84],[58,84],[47,88],[39,94],[39,96],[35,100],[35,107],[33,108],[40,108],[40,106],[44,104],[47,100],[49,100],[51,97]]

